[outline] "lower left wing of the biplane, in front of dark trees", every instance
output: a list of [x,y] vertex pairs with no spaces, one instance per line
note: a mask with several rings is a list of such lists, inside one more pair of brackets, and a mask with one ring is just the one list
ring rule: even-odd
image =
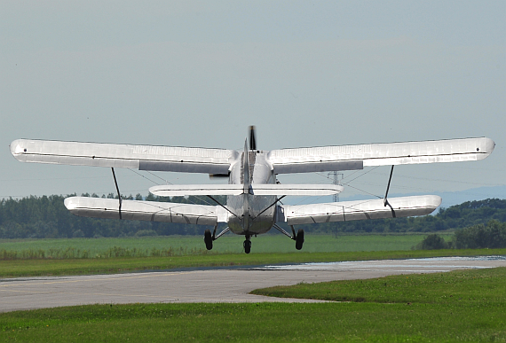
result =
[[[83,217],[120,218],[118,199],[71,197],[65,199],[65,207],[72,214]],[[122,219],[130,221],[216,225],[217,212],[215,206],[137,200],[122,202]]]

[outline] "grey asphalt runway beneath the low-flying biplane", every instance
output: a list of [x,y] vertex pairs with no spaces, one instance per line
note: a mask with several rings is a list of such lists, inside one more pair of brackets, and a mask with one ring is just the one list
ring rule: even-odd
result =
[[257,288],[330,280],[506,267],[505,256],[345,261],[240,269],[194,269],[80,277],[0,279],[0,311],[84,304],[315,300],[251,295]]

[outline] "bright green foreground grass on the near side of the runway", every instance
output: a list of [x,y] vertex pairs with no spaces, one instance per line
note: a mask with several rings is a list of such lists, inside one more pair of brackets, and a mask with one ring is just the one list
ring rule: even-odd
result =
[[4,313],[0,341],[505,342],[505,275],[503,268],[475,269],[292,287],[293,294],[311,286],[322,298],[360,302],[94,305]]

